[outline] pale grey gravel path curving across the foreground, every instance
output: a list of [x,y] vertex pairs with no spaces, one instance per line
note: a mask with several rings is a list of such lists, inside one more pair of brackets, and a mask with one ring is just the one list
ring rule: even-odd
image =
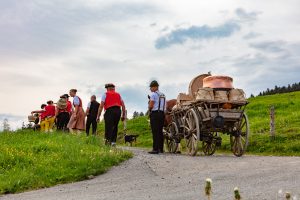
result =
[[276,200],[280,189],[300,198],[300,157],[189,157],[131,150],[133,159],[92,180],[0,199],[204,200],[207,177],[213,180],[213,200],[232,200],[235,186],[247,200]]

